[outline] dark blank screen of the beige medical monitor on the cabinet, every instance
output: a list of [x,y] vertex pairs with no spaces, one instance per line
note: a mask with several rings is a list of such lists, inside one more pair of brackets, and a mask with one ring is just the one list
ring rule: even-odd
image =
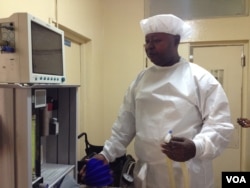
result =
[[63,75],[62,35],[31,21],[33,73]]

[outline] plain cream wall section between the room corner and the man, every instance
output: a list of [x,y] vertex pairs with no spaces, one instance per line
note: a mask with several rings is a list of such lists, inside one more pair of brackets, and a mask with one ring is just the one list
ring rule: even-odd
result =
[[[139,21],[143,0],[105,0],[103,37],[103,106],[105,138],[111,133],[123,95],[144,66],[144,36]],[[129,153],[133,153],[131,149]]]

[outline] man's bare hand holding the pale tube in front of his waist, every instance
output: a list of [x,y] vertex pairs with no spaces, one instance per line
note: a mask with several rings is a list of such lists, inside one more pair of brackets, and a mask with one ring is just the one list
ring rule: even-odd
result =
[[169,143],[163,143],[161,147],[164,154],[178,162],[188,161],[196,153],[194,142],[184,137],[173,137]]

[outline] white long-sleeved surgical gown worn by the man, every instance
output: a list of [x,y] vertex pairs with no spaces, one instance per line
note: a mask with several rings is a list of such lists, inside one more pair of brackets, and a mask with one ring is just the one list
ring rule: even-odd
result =
[[[102,154],[113,161],[135,138],[136,187],[169,187],[160,144],[172,130],[174,136],[192,139],[196,146],[195,157],[186,162],[189,187],[212,188],[212,160],[226,148],[233,129],[222,86],[208,71],[181,58],[170,67],[152,66],[132,82]],[[173,166],[176,187],[182,188],[180,163]],[[140,170],[142,178],[137,177]]]

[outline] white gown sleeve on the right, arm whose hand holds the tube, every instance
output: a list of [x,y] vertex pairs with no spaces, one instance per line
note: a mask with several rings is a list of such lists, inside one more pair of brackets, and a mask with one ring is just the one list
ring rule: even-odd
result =
[[213,159],[227,147],[234,130],[229,102],[221,84],[212,75],[202,76],[197,83],[203,125],[193,138],[195,157]]

